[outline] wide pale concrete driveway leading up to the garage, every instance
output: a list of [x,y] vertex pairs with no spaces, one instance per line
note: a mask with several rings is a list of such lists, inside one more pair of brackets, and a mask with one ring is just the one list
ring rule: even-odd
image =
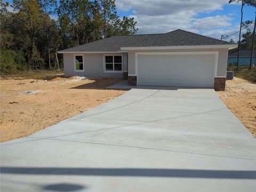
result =
[[139,88],[1,143],[1,191],[255,191],[256,140],[214,90]]

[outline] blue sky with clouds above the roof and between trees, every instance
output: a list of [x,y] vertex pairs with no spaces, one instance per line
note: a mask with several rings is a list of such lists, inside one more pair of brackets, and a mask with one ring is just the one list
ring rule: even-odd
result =
[[[221,38],[239,31],[241,3],[229,0],[116,0],[119,17],[134,18],[137,34],[166,33],[175,29]],[[8,1],[12,3],[11,0]],[[255,7],[245,5],[243,21],[255,19]],[[51,15],[57,20],[57,15]],[[253,30],[253,25],[249,27]],[[242,31],[246,33],[246,29]],[[225,39],[238,41],[239,33]]]

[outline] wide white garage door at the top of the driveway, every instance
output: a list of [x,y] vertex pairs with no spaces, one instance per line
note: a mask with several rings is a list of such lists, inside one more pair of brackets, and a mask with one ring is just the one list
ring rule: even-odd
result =
[[215,54],[138,54],[138,85],[213,87]]

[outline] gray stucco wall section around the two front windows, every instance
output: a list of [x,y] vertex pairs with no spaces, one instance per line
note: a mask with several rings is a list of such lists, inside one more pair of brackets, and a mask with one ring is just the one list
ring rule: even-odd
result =
[[[74,54],[63,54],[65,76],[84,76],[84,77],[123,77],[122,73],[104,73],[103,54],[90,53],[84,55],[84,72],[76,72],[74,66]],[[123,55],[123,70],[127,71],[127,53]]]

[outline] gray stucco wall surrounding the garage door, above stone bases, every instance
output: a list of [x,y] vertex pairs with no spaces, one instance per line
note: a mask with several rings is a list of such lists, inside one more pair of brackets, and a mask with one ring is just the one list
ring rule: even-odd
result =
[[135,52],[193,52],[193,51],[218,51],[217,76],[225,76],[227,73],[228,49],[186,49],[186,50],[133,50],[128,52],[128,75],[135,75]]

